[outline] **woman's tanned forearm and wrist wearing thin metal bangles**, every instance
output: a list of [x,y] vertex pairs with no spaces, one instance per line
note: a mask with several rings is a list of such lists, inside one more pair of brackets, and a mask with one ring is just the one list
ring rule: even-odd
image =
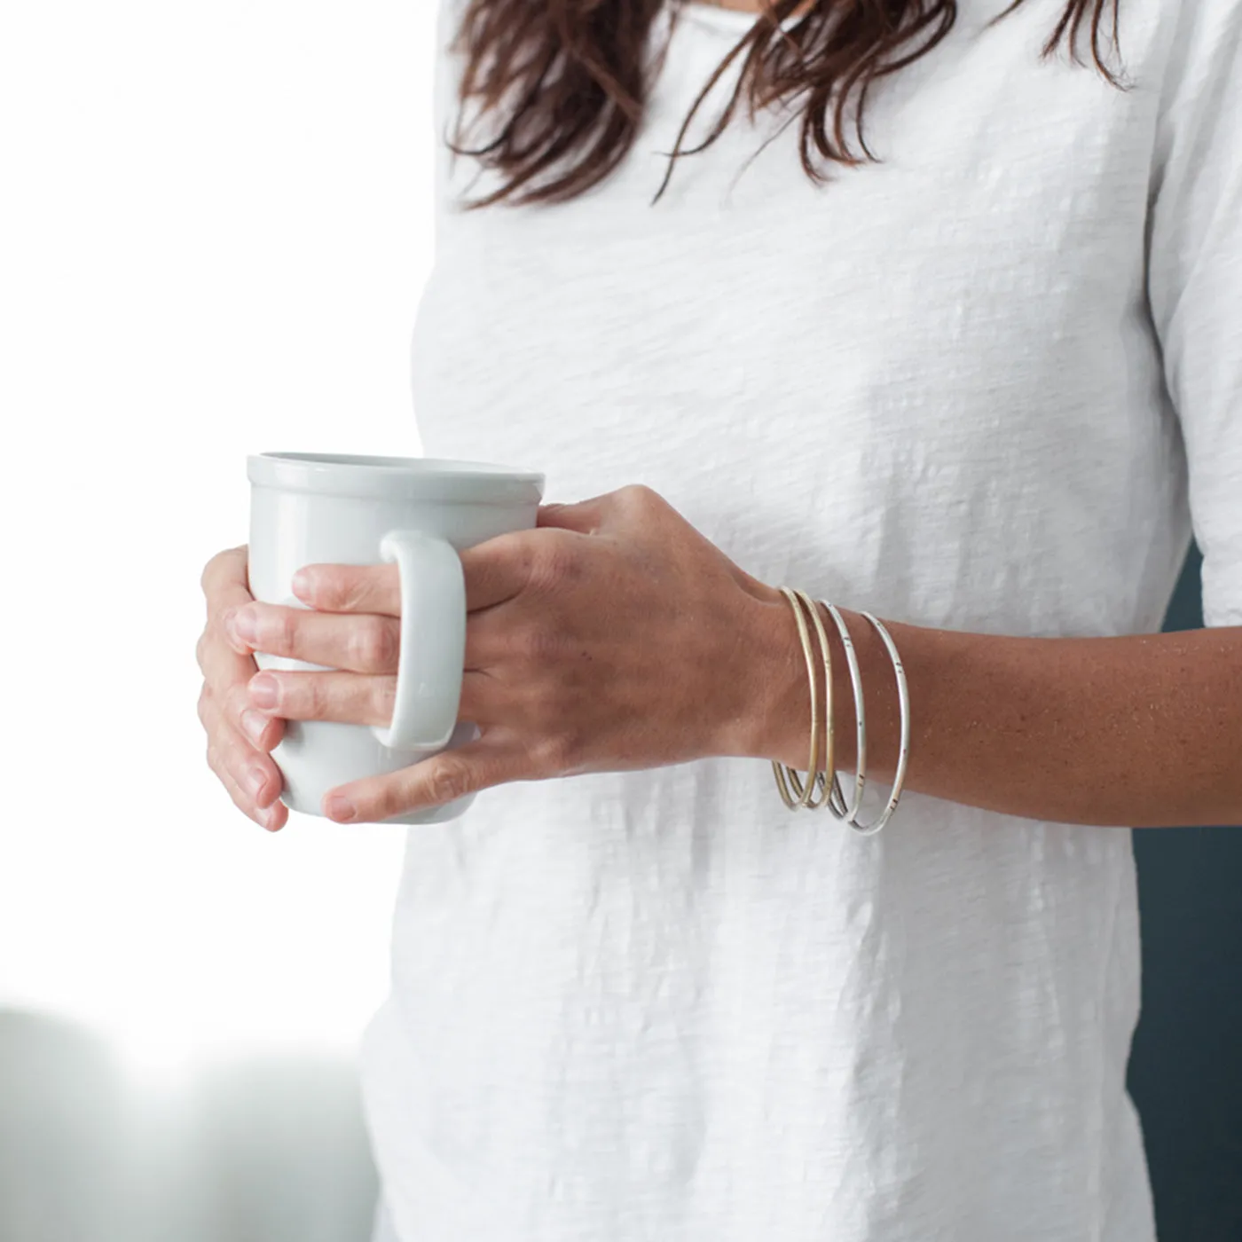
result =
[[[802,646],[784,597],[764,607],[768,672],[748,749],[802,771]],[[892,663],[866,619],[841,611],[864,689],[867,774],[888,780],[900,732]],[[820,612],[832,653],[836,766],[852,773],[848,666]],[[1242,823],[1242,627],[1017,638],[884,623],[910,694],[908,790],[1063,823]]]

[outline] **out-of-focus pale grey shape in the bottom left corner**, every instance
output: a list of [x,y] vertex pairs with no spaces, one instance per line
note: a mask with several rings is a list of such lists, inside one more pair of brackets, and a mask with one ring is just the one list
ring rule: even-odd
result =
[[348,1058],[221,1061],[164,1093],[61,1018],[0,1011],[0,1242],[366,1242]]

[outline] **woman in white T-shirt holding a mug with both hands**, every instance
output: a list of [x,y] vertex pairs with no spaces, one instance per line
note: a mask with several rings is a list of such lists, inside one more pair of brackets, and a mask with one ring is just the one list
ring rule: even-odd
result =
[[[483,737],[325,804],[483,791],[407,833],[376,1237],[1144,1242],[1129,828],[1242,822],[1242,2],[760,7],[442,12],[419,430],[578,503],[462,555]],[[1159,635],[1192,530],[1208,628]],[[282,722],[391,703],[392,566],[308,578],[204,574],[273,830]],[[761,761],[809,763],[782,585],[841,607],[868,790],[863,610],[900,653],[879,833]]]

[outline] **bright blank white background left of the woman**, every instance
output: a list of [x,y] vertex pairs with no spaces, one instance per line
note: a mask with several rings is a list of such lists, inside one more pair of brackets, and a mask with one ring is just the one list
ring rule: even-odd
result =
[[245,457],[416,455],[431,0],[0,16],[0,1009],[135,1073],[353,1054],[401,831],[277,835],[205,761],[199,578]]

